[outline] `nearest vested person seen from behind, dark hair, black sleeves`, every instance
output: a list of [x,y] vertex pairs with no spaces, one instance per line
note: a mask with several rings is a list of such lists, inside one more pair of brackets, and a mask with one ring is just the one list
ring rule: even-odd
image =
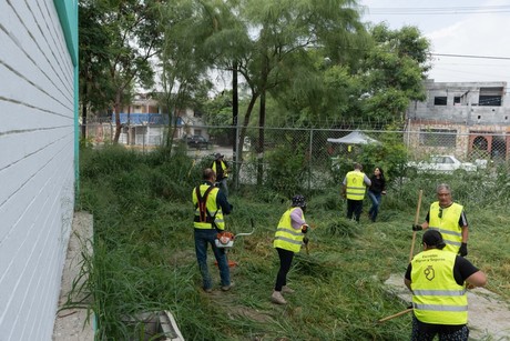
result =
[[424,251],[407,268],[404,283],[412,292],[412,341],[467,341],[467,287],[483,287],[486,274],[467,259],[443,250],[440,232],[427,230]]

